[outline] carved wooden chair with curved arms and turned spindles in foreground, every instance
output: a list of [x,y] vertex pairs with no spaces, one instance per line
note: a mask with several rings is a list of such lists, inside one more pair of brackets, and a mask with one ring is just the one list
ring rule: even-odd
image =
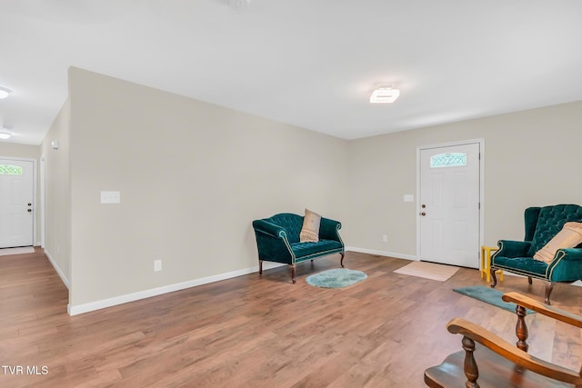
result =
[[[425,371],[429,387],[582,387],[582,371],[574,372],[527,353],[526,308],[582,328],[582,317],[539,303],[519,293],[503,295],[517,303],[517,347],[463,318],[447,324],[450,333],[463,335],[463,349]],[[480,343],[477,345],[475,343]]]

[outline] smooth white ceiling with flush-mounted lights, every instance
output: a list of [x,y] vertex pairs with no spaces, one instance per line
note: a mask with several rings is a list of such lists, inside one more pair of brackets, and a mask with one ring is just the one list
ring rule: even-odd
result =
[[0,0],[9,141],[40,144],[70,65],[346,139],[582,100],[580,0],[244,3]]

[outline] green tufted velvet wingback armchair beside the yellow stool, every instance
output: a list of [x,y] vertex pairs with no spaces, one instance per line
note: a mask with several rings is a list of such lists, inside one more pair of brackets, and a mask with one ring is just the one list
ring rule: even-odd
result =
[[556,204],[528,207],[524,214],[525,241],[500,240],[499,250],[491,258],[491,287],[497,285],[495,272],[499,269],[546,281],[545,302],[556,282],[575,282],[582,279],[582,244],[574,248],[558,249],[550,263],[534,259],[567,222],[582,223],[582,207],[577,204]]

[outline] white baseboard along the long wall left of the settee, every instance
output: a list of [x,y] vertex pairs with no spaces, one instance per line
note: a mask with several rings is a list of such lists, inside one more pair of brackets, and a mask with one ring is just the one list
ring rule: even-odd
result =
[[[268,270],[271,268],[280,267],[286,264],[279,263],[267,263],[263,262],[263,270]],[[112,307],[117,304],[135,302],[140,299],[151,298],[152,296],[161,295],[164,293],[173,293],[175,291],[184,290],[190,287],[196,287],[197,285],[209,284],[219,282],[221,280],[231,279],[236,276],[242,276],[245,274],[253,274],[258,272],[258,265],[250,268],[245,268],[242,270],[232,271],[225,274],[216,274],[213,276],[206,276],[199,279],[188,280],[182,283],[168,284],[161,287],[151,288],[149,290],[138,291],[136,293],[125,293],[124,295],[114,296],[113,298],[102,299],[100,301],[83,303],[78,305],[71,305],[69,303],[66,306],[66,310],[69,315],[78,315],[80,313],[89,313],[95,310],[104,309],[106,307]]]

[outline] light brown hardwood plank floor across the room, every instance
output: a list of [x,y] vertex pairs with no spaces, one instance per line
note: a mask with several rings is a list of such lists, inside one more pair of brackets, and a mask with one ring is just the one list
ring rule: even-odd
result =
[[[487,285],[477,270],[437,282],[394,274],[406,260],[347,253],[344,263],[368,279],[306,284],[338,267],[336,255],[298,265],[296,284],[282,267],[71,317],[39,249],[0,256],[0,386],[422,387],[426,367],[461,349],[445,329],[453,317],[516,341],[514,313],[452,291]],[[538,281],[506,275],[497,287],[543,300]],[[581,287],[557,284],[552,299],[582,313]],[[540,314],[527,323],[530,353],[579,369],[579,329]]]

